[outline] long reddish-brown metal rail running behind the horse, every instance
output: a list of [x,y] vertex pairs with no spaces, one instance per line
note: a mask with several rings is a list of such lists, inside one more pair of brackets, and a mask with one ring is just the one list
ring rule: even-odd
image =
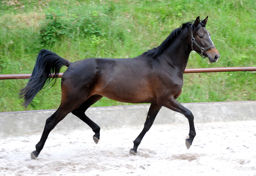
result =
[[[256,71],[256,67],[187,68],[184,73]],[[61,78],[63,73],[59,74]],[[0,80],[29,79],[31,74],[2,74]]]

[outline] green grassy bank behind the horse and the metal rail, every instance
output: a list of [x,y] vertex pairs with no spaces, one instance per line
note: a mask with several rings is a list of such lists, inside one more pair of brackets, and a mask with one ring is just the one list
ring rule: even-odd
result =
[[[40,3],[20,0],[12,6],[2,1],[0,74],[31,73],[43,48],[71,62],[89,57],[136,57],[160,45],[181,24],[207,15],[206,28],[221,54],[220,60],[210,64],[207,58],[192,52],[187,68],[256,66],[255,9],[253,0],[42,0]],[[46,19],[49,14],[60,22],[57,30],[49,28],[55,20]],[[50,38],[43,40],[42,31],[51,34],[53,30],[57,31],[56,36],[49,35]],[[184,74],[178,101],[255,100],[255,77],[252,72]],[[0,111],[24,110],[18,92],[27,81],[0,80]],[[58,108],[60,79],[46,90],[38,93],[28,110]],[[124,104],[127,103],[102,98],[93,106]]]

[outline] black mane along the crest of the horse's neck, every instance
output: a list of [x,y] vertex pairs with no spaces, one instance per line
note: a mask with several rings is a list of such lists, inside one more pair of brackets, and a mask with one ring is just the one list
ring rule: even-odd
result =
[[[156,48],[153,48],[152,50],[148,50],[146,52],[144,52],[142,55],[145,56],[152,56],[152,57],[157,57],[159,56],[170,44],[172,44],[172,42],[180,35],[182,34],[182,30],[191,30],[191,28],[194,27],[194,20],[184,23],[182,25],[180,25],[179,28],[174,29],[171,34],[164,40],[164,42],[162,42],[161,45],[159,45]],[[196,30],[199,29],[201,26],[205,27],[205,25],[203,23],[200,22],[201,25],[198,25],[196,27]]]

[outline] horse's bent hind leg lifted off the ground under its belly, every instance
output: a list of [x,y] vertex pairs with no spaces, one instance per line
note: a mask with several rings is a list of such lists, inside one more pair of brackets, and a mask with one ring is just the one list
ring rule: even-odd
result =
[[84,103],[82,103],[79,108],[72,111],[72,114],[77,116],[79,119],[81,119],[83,122],[85,122],[88,126],[92,128],[92,131],[95,133],[93,135],[93,141],[97,144],[100,140],[100,126],[98,126],[95,122],[93,122],[91,119],[89,119],[85,115],[85,111],[94,103],[96,103],[100,98],[103,96],[101,95],[93,95],[90,96]]

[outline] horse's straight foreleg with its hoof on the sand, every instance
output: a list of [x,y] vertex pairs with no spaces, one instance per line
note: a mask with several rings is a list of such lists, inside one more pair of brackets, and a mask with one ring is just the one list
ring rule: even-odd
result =
[[130,153],[135,155],[137,153],[137,148],[140,145],[140,142],[142,140],[142,138],[144,137],[144,135],[148,132],[148,130],[150,129],[150,127],[153,125],[153,122],[156,118],[157,113],[159,112],[159,110],[162,108],[162,106],[158,106],[157,104],[151,104],[148,110],[148,115],[147,115],[147,119],[146,122],[144,124],[144,128],[141,131],[141,133],[139,134],[139,136],[133,141],[133,149],[130,150]]

